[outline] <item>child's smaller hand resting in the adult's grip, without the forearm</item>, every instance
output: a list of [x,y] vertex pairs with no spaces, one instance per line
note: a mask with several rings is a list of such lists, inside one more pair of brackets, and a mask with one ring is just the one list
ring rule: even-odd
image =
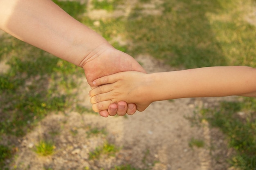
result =
[[[152,102],[147,95],[147,82],[150,82],[148,78],[146,73],[127,71],[96,79],[93,84],[98,87],[93,88],[89,93],[90,102],[93,104],[92,109],[99,112],[118,102],[119,106],[122,106],[123,103],[120,101],[124,101],[135,103],[138,111],[145,110]],[[99,86],[101,84],[104,85]],[[128,106],[133,107],[132,105]]]

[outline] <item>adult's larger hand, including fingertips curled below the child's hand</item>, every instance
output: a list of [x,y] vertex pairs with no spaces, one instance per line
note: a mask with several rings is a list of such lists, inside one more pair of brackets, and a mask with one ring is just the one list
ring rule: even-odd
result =
[[[85,77],[91,88],[95,85],[93,81],[106,75],[112,75],[123,71],[139,71],[146,73],[139,63],[130,55],[123,53],[114,48],[108,48],[98,55],[94,55],[90,60],[83,64]],[[127,104],[124,101],[112,103],[108,110],[98,106],[99,114],[103,117],[120,115],[124,116],[126,113],[132,115],[136,112],[135,104]]]

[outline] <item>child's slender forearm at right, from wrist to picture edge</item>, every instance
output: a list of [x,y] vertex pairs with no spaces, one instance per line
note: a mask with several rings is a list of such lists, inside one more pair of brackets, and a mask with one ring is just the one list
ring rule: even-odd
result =
[[[245,66],[195,68],[152,74],[154,101],[184,97],[256,97],[256,69]],[[166,80],[166,81],[163,81]]]

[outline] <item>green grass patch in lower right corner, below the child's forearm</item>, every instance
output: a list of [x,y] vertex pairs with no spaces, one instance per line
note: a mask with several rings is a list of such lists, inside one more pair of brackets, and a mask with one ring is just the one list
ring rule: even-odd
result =
[[[242,170],[256,170],[256,99],[243,102],[221,102],[219,108],[200,111],[202,119],[226,135],[229,147],[236,151],[230,163]],[[198,117],[198,118],[199,118]]]

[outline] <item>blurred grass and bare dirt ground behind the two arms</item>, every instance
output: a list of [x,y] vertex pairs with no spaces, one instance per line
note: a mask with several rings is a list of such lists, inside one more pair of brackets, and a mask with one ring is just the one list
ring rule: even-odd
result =
[[[53,1],[149,73],[256,67],[255,0]],[[256,170],[254,98],[102,118],[89,90],[81,68],[0,32],[0,170]]]

